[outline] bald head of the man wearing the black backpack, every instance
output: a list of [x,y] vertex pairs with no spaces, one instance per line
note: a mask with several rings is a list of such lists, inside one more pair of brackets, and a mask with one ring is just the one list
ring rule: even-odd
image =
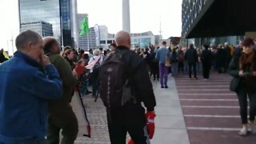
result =
[[130,49],[130,34],[124,30],[115,34],[115,42],[117,46],[126,46]]

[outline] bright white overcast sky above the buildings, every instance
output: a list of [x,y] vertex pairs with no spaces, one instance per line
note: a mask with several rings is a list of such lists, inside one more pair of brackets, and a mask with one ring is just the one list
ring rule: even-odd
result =
[[[122,0],[78,0],[78,13],[89,14],[89,25],[105,25],[110,33],[122,30]],[[182,0],[130,0],[131,33],[152,31],[163,38],[180,36]],[[18,0],[0,0],[0,47],[7,50],[18,34]]]

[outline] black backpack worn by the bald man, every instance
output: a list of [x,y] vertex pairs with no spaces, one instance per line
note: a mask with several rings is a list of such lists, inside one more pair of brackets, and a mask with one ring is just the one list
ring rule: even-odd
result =
[[115,50],[106,57],[99,69],[99,93],[107,108],[136,102],[131,92],[130,67],[122,60],[124,55]]

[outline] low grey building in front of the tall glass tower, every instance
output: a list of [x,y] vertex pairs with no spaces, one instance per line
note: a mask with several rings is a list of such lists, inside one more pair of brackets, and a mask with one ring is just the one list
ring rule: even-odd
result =
[[42,37],[46,36],[54,36],[53,26],[48,22],[28,22],[21,24],[21,31],[24,30],[34,30],[42,35]]

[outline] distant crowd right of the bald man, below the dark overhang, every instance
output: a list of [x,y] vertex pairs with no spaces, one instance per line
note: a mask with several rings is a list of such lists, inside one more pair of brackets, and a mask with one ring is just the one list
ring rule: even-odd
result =
[[[153,75],[154,80],[159,80],[160,75],[163,75],[163,79],[161,79],[162,87],[168,87],[164,81],[166,82],[165,79],[170,73],[173,77],[178,77],[180,74],[189,74],[191,79],[193,72],[194,79],[198,79],[198,74],[202,74],[204,80],[210,78],[210,70],[218,71],[219,74],[226,73],[232,56],[242,50],[241,43],[239,42],[236,47],[228,42],[218,46],[203,44],[195,47],[190,44],[186,47],[166,46],[166,42],[162,42],[161,47],[136,48],[134,52],[144,58],[150,76]],[[170,66],[165,68],[166,61],[170,62]],[[159,65],[159,62],[161,65]]]

